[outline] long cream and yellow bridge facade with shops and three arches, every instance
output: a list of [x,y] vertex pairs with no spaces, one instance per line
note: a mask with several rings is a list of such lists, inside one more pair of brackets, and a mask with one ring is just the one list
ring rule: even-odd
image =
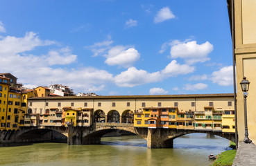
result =
[[[53,111],[51,113],[51,111]],[[37,125],[90,126],[93,122],[133,123],[135,127],[234,132],[233,94],[67,96],[28,99]],[[58,116],[58,119],[57,119]],[[31,119],[32,120],[32,119]],[[31,121],[30,120],[30,121]],[[28,119],[29,121],[29,119]],[[31,126],[35,122],[31,121]],[[58,122],[58,124],[56,124]]]

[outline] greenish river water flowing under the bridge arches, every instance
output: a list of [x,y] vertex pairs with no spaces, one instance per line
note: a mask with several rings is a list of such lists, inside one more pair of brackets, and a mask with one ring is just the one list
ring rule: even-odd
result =
[[210,165],[207,156],[228,149],[229,140],[191,133],[173,141],[173,149],[147,149],[139,136],[101,138],[102,145],[41,142],[0,147],[0,165]]

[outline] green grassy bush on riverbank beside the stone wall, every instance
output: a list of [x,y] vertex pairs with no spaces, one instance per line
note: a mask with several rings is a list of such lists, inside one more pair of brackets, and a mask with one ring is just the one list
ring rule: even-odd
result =
[[212,166],[217,166],[217,165],[223,165],[223,166],[230,166],[232,165],[234,161],[234,157],[236,156],[236,150],[229,150],[229,151],[224,151],[221,154],[218,154],[216,156],[216,160],[214,161]]

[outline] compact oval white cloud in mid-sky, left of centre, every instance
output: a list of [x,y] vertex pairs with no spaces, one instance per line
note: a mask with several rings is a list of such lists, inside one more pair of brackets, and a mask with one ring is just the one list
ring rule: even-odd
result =
[[135,48],[127,46],[114,46],[105,55],[105,63],[114,66],[130,67],[139,59],[139,52]]

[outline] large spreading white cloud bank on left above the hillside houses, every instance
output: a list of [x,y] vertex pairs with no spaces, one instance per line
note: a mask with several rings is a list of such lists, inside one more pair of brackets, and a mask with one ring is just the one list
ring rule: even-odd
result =
[[56,42],[41,40],[35,33],[26,33],[24,37],[6,36],[0,39],[0,71],[12,73],[19,82],[28,87],[46,86],[53,83],[67,84],[71,88],[86,90],[103,89],[114,82],[108,71],[97,68],[56,68],[76,62],[77,55],[71,53],[69,47],[50,50],[46,55],[26,54],[39,46],[48,46]]

